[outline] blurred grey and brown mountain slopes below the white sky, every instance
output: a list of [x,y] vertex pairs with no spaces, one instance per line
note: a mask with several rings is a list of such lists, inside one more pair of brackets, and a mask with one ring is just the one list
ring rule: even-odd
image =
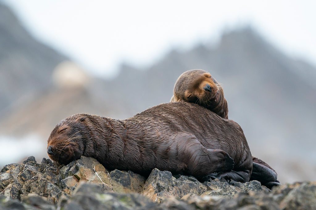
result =
[[[18,24],[3,8],[0,14]],[[11,24],[19,29],[16,34],[2,32],[10,24],[3,18],[0,23],[0,46],[8,49],[0,54],[1,108],[6,110],[1,134],[39,133],[46,141],[58,121],[71,114],[128,118],[169,102],[181,73],[204,69],[222,84],[228,117],[243,128],[252,154],[275,168],[281,182],[315,180],[316,68],[284,55],[251,28],[225,32],[215,46],[174,49],[147,68],[122,64],[115,79],[104,80],[89,77],[76,64],[56,67],[63,56],[34,41],[20,25]],[[2,34],[9,32],[3,41]],[[23,34],[26,38],[17,38]],[[23,96],[28,101],[3,109]]]

